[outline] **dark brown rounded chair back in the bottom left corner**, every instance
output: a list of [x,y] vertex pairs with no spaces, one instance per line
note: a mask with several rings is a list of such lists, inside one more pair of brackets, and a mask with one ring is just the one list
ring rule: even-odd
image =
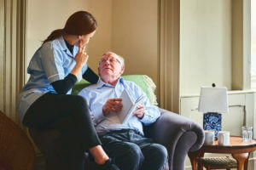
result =
[[0,170],[32,170],[35,150],[22,129],[0,111]]

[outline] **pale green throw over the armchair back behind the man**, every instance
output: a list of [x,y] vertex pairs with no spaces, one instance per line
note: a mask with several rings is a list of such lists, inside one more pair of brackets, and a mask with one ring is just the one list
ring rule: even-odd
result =
[[[157,105],[156,97],[154,94],[155,84],[152,79],[146,75],[126,75],[123,76],[125,80],[135,82],[140,88],[143,89],[144,93],[147,94],[148,99],[152,105]],[[79,94],[83,89],[90,86],[90,82],[82,80],[77,82],[73,87],[72,94]]]

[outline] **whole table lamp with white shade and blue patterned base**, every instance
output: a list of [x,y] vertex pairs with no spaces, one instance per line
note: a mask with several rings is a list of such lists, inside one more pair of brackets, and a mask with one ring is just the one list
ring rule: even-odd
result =
[[213,130],[215,137],[221,131],[221,114],[228,112],[227,88],[201,87],[198,111],[203,112],[204,130]]

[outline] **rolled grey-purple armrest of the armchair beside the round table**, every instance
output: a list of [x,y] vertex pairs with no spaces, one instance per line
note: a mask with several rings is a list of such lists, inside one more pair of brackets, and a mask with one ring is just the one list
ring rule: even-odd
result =
[[188,152],[199,150],[203,144],[203,129],[184,116],[163,109],[160,112],[160,118],[152,127],[151,138],[166,146],[169,170],[183,170]]

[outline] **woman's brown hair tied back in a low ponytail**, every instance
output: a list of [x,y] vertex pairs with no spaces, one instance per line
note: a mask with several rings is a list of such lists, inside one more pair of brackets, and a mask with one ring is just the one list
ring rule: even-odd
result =
[[95,18],[86,11],[78,11],[72,14],[63,29],[57,29],[49,34],[45,42],[52,41],[63,35],[86,35],[96,30],[97,23]]

